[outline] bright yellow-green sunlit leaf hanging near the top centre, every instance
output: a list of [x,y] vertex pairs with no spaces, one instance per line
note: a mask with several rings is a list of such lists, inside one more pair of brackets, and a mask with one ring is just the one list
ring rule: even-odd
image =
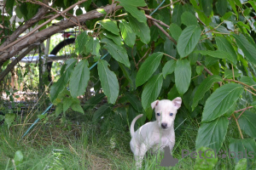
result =
[[136,35],[132,31],[131,26],[126,20],[121,20],[119,22],[119,28],[125,43],[132,48],[136,40]]

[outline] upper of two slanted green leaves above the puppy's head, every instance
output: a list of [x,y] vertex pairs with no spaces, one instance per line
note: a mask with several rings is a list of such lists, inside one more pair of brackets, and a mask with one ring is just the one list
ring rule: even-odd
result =
[[143,85],[148,79],[153,75],[154,71],[160,65],[160,60],[162,59],[163,53],[154,53],[148,56],[148,58],[143,62],[136,76],[136,87]]

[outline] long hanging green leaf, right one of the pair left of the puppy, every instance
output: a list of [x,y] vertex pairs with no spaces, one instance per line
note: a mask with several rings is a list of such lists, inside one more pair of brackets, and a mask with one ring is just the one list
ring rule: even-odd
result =
[[108,69],[108,65],[106,60],[99,59],[98,74],[103,92],[108,97],[108,102],[114,104],[119,95],[119,82],[113,71]]

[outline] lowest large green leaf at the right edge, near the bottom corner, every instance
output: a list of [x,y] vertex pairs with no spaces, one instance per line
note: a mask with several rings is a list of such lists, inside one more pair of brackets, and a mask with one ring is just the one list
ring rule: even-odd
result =
[[249,159],[256,156],[256,143],[254,139],[230,139],[229,157],[236,162],[242,158]]

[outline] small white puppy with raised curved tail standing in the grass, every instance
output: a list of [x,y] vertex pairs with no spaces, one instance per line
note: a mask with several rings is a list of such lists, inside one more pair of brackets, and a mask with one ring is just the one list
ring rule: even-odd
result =
[[151,104],[155,112],[156,121],[148,122],[134,132],[134,124],[143,114],[136,116],[131,122],[131,151],[134,154],[137,167],[142,167],[145,153],[162,150],[169,146],[172,151],[175,144],[174,119],[182,104],[181,98],[156,100]]

